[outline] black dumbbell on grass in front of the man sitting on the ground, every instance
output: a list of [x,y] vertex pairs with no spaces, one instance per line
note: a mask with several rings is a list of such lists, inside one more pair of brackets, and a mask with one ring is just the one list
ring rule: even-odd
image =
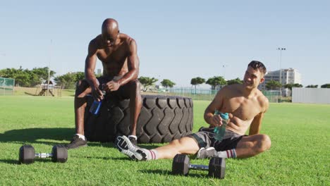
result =
[[225,159],[213,157],[209,161],[209,166],[193,165],[189,162],[189,157],[184,154],[176,154],[173,159],[172,173],[174,175],[188,175],[189,169],[209,171],[209,176],[223,179],[225,175]]

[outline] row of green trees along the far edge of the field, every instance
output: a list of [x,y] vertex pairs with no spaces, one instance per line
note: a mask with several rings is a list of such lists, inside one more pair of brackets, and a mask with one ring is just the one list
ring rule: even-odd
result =
[[[23,86],[23,87],[33,87],[35,85],[40,85],[48,80],[48,73],[50,77],[54,77],[56,74],[53,70],[49,71],[48,67],[44,68],[33,68],[32,70],[23,69],[20,67],[19,69],[16,68],[5,68],[0,70],[0,77],[8,77],[15,79],[16,86]],[[100,76],[100,75],[97,75]],[[82,80],[85,78],[85,73],[83,72],[75,72],[75,73],[66,73],[64,75],[58,75],[54,77],[56,85],[61,85],[63,88],[71,89],[75,87],[75,82],[78,80]],[[138,78],[143,85],[144,89],[146,90],[148,87],[154,85],[155,82],[158,80],[154,77],[144,77],[140,76]],[[212,89],[215,89],[217,86],[223,85],[232,85],[232,84],[241,84],[243,80],[240,78],[236,78],[233,80],[225,80],[222,76],[214,76],[210,77],[209,79],[205,80],[202,77],[194,77],[190,80],[190,85],[195,86],[201,85],[206,83],[207,85],[211,85]],[[164,79],[160,82],[163,87],[173,87],[176,85],[175,82],[172,82],[169,79]],[[266,84],[267,89],[278,89],[281,87],[280,82],[270,80]],[[283,85],[283,87],[292,90],[293,87],[302,87],[302,85],[295,83],[295,84],[288,84]],[[306,87],[310,88],[317,88],[318,85],[307,85]],[[324,84],[321,88],[330,88],[330,84]]]

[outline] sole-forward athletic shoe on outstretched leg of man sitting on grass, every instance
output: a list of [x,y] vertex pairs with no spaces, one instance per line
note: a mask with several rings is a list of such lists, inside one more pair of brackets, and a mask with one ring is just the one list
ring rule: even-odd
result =
[[116,138],[116,147],[118,148],[121,153],[125,154],[126,156],[130,157],[130,159],[133,160],[140,160],[140,161],[146,161],[147,160],[147,154],[145,154],[140,147],[136,147],[128,137],[126,136],[118,136]]

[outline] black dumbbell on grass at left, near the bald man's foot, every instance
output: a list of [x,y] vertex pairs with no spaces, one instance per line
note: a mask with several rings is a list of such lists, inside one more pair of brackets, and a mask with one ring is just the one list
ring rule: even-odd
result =
[[49,158],[51,161],[65,163],[68,160],[68,149],[64,145],[56,144],[53,149],[51,149],[51,154],[40,153],[35,154],[35,148],[30,144],[25,144],[20,147],[19,159],[20,163],[29,164],[35,162],[35,158]]

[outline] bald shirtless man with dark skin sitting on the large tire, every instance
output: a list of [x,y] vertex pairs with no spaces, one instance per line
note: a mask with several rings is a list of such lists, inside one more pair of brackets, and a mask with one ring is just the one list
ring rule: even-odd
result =
[[[103,76],[95,77],[94,70],[97,58],[102,61]],[[136,144],[136,124],[142,106],[140,95],[139,58],[137,45],[133,38],[119,32],[118,22],[108,18],[102,24],[102,34],[98,35],[88,46],[85,61],[85,80],[78,82],[75,91],[75,130],[76,135],[68,149],[87,146],[84,136],[84,113],[87,105],[87,94],[94,100],[104,99],[102,89],[107,93],[118,94],[121,98],[130,99],[130,135]]]

